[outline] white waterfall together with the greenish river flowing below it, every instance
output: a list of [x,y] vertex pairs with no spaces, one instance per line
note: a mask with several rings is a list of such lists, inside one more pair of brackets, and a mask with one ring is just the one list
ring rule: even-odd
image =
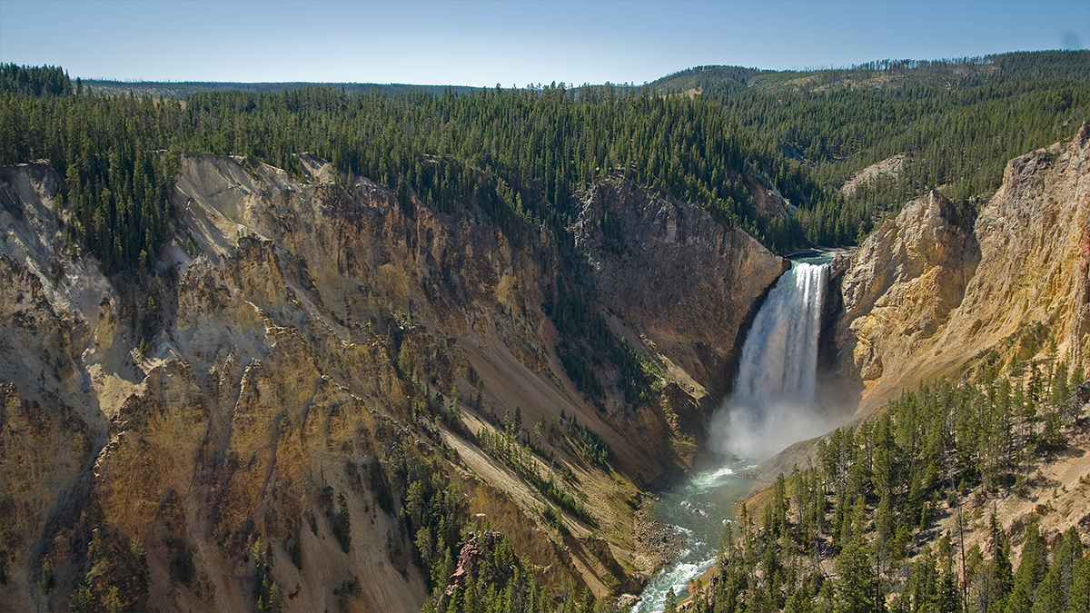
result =
[[[810,260],[814,261],[828,262],[828,256]],[[661,612],[667,590],[686,593],[689,581],[718,560],[716,543],[724,526],[752,486],[751,481],[736,478],[736,470],[840,423],[837,416],[826,418],[816,401],[818,338],[827,278],[827,264],[792,262],[758,311],[742,346],[734,395],[712,417],[710,430],[712,447],[736,457],[698,473],[655,506],[655,516],[677,526],[688,543],[651,581],[633,613]]]

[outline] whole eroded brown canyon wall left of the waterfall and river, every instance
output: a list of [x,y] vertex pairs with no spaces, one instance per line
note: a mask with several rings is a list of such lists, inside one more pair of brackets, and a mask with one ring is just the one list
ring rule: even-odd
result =
[[[544,581],[635,589],[638,485],[681,461],[673,432],[700,422],[679,425],[677,407],[725,386],[783,262],[691,205],[590,188],[577,232],[590,290],[668,370],[655,400],[600,410],[543,310],[556,237],[508,236],[472,205],[399,202],[364,178],[331,183],[301,160],[311,183],[183,156],[149,286],[69,254],[48,165],[0,169],[0,609],[66,611],[82,586],[119,587],[141,610],[242,611],[275,584],[284,611],[417,611],[427,569],[395,466],[410,450],[445,467]],[[548,501],[475,446],[467,431],[505,413],[526,437],[541,423],[562,438],[574,416],[609,445],[613,477],[536,440],[606,540],[573,517],[549,529]]]

